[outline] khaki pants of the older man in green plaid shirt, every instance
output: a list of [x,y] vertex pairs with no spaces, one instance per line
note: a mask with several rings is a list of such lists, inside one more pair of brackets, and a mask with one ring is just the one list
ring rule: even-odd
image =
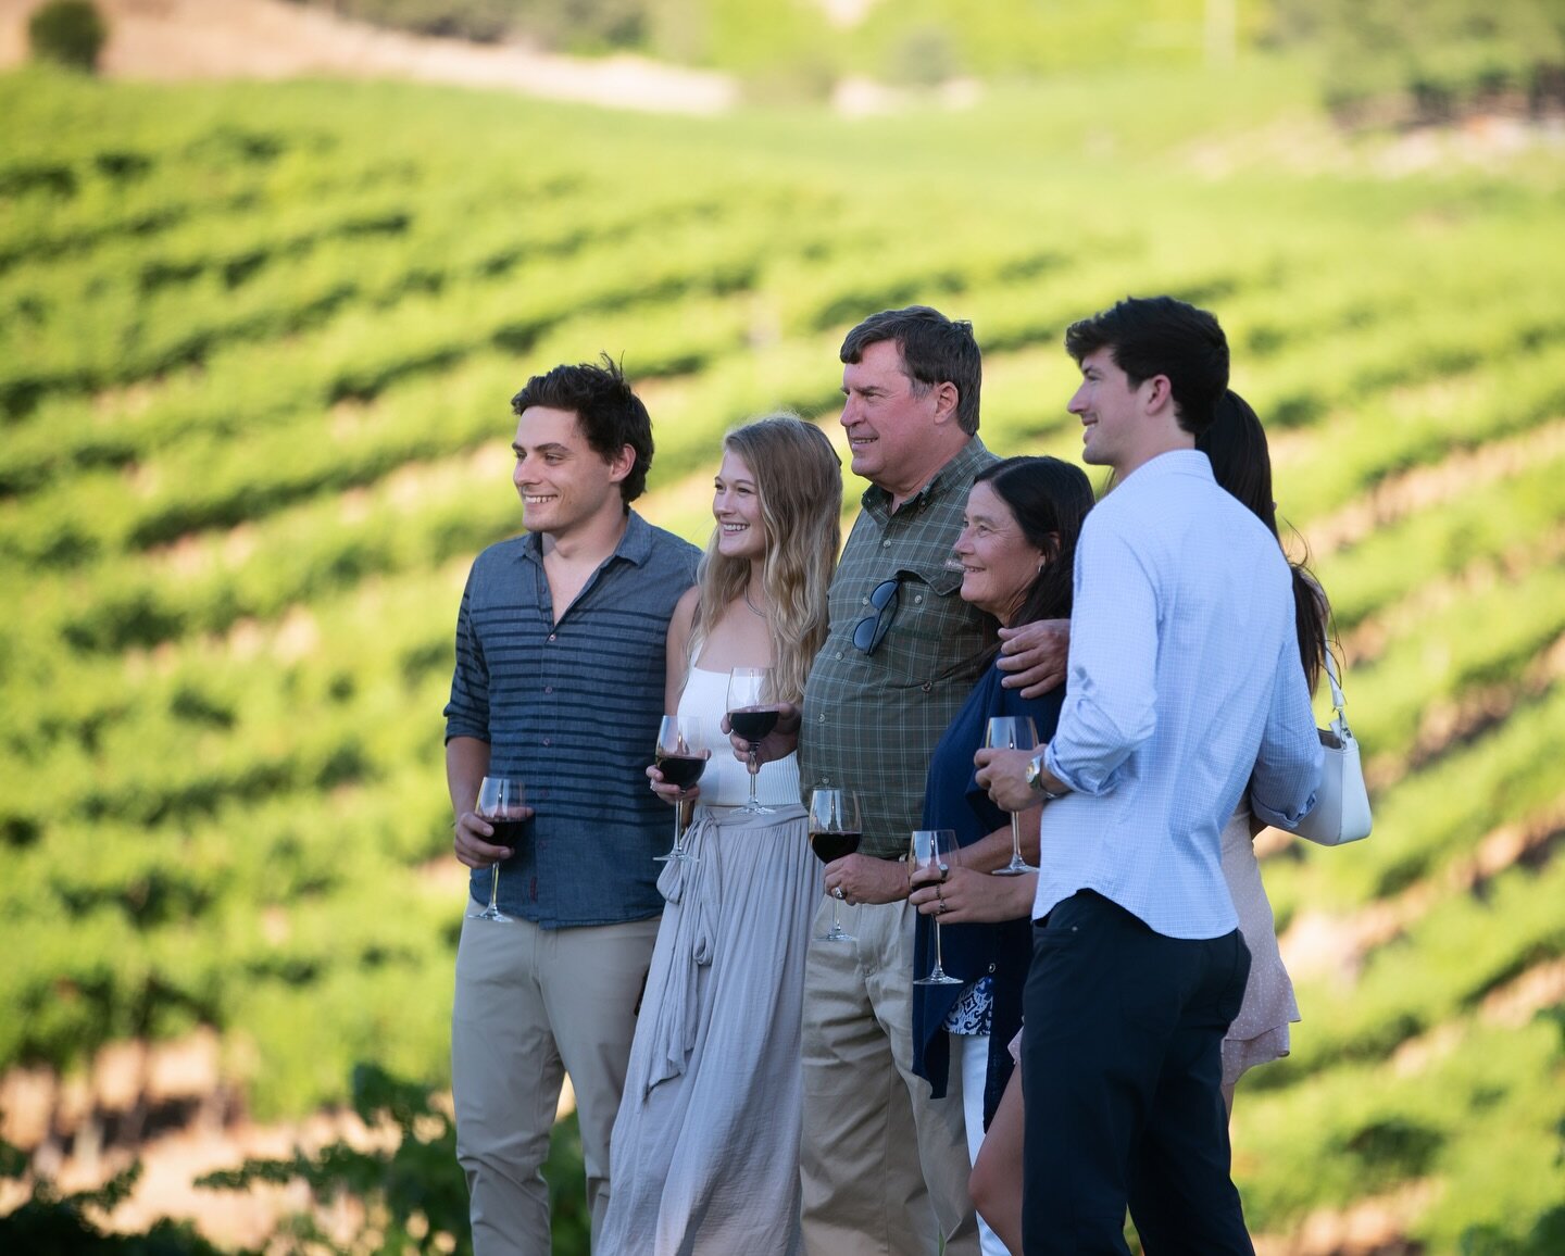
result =
[[[815,913],[825,932],[831,901]],[[842,909],[856,942],[820,942],[804,970],[800,1178],[812,1256],[978,1256],[959,1070],[944,1100],[912,1073],[914,909]]]

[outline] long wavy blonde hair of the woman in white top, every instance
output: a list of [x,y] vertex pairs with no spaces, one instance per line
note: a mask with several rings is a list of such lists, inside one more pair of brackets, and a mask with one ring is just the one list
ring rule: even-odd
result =
[[[826,590],[842,547],[842,461],[826,433],[798,414],[767,414],[723,436],[723,449],[743,458],[761,499],[765,558],[761,583],[772,613],[773,701],[804,696],[815,652],[826,640]],[[723,610],[745,594],[750,560],[718,552],[712,529],[696,583],[701,601],[690,633],[690,657]]]

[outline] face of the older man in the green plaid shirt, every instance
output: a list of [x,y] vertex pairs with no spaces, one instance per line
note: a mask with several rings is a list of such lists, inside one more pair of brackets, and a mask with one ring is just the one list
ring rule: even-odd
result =
[[853,474],[897,501],[923,488],[967,440],[956,424],[956,386],[937,383],[919,393],[897,341],[865,346],[858,361],[847,363],[842,393]]

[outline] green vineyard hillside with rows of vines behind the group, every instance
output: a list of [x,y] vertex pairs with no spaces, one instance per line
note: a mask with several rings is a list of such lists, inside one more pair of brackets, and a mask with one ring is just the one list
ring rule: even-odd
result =
[[1393,177],[1305,94],[696,124],[0,78],[0,1065],[213,1025],[261,1115],[357,1059],[440,1082],[440,709],[532,371],[623,353],[645,510],[701,540],[725,427],[836,432],[862,314],[972,318],[988,443],[1072,457],[1064,324],[1172,291],[1271,425],[1376,782],[1371,842],[1266,863],[1305,1021],[1239,1095],[1252,1223],[1560,1250],[1565,160]]

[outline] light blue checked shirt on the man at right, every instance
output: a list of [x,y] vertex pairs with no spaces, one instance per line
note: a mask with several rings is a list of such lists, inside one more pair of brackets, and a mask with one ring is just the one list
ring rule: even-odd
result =
[[1033,917],[1089,888],[1166,937],[1238,926],[1219,832],[1246,788],[1266,823],[1315,804],[1321,743],[1277,538],[1207,455],[1163,454],[1110,493],[1075,555],[1070,663]]

